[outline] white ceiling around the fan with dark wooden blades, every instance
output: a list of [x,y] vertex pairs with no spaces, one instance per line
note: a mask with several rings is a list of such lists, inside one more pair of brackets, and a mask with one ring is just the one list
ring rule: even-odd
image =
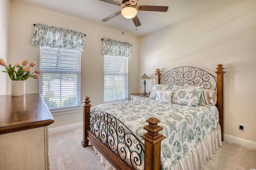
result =
[[[122,2],[122,0],[115,0]],[[130,32],[138,37],[193,18],[210,10],[238,0],[139,0],[138,5],[168,6],[167,12],[138,11],[141,26],[122,15],[106,22],[102,19],[122,10],[122,7],[100,0],[10,0],[18,4],[38,8],[55,14],[78,18],[91,23],[112,27],[120,32]]]

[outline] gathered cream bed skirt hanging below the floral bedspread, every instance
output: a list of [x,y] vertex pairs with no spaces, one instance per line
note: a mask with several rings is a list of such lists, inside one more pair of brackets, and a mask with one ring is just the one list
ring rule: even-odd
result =
[[[89,142],[89,145],[92,144]],[[222,146],[220,125],[176,164],[171,165],[171,170],[203,170],[203,164],[206,164],[207,160],[212,159],[212,154],[218,150],[219,146]],[[98,154],[100,162],[106,164],[105,170],[116,170],[94,146],[93,149]]]

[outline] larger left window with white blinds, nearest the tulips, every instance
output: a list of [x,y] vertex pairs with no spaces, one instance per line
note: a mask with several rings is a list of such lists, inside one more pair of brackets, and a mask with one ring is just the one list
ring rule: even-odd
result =
[[40,94],[52,110],[80,107],[80,51],[40,47]]

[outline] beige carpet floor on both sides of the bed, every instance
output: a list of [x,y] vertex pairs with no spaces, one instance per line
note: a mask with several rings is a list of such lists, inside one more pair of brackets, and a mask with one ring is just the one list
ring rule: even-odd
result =
[[[105,170],[92,146],[82,147],[82,128],[49,135],[50,170]],[[256,150],[234,143],[222,147],[204,170],[256,170]]]

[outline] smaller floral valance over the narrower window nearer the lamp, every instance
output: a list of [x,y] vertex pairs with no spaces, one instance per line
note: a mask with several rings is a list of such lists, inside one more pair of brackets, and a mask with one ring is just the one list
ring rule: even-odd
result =
[[127,42],[120,42],[115,39],[103,38],[102,40],[103,55],[110,55],[116,57],[131,57],[132,45]]

